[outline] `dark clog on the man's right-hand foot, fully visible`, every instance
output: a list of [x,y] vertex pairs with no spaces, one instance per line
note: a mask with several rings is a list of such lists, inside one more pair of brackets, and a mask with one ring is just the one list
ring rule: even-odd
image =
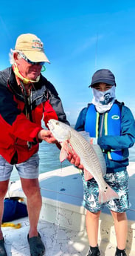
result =
[[45,246],[41,240],[41,235],[39,233],[38,233],[38,237],[31,237],[31,238],[29,238],[29,234],[28,234],[27,240],[30,245],[30,255],[31,256],[43,256],[44,255]]

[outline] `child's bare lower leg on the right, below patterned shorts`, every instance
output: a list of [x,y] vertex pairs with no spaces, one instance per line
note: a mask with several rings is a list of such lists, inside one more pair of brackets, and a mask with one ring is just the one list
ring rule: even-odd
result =
[[114,219],[114,227],[117,237],[117,247],[120,250],[125,249],[126,239],[128,234],[128,220],[125,212],[111,211]]

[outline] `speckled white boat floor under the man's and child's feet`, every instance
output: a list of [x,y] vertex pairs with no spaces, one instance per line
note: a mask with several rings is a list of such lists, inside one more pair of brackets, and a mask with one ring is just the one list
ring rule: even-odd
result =
[[[30,256],[27,233],[29,221],[27,217],[13,221],[21,223],[21,229],[2,228],[4,232],[7,256]],[[89,242],[85,231],[77,232],[53,223],[40,220],[38,230],[46,247],[46,256],[86,256]],[[101,256],[114,256],[115,247],[103,240],[100,246]],[[127,251],[128,252],[128,251]],[[134,253],[130,254],[134,256]]]

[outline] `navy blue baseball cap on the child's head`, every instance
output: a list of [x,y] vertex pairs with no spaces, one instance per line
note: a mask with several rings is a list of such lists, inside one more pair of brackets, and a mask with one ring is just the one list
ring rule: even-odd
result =
[[91,85],[89,85],[89,87],[93,87],[93,85],[97,84],[97,82],[104,82],[105,84],[116,86],[115,76],[108,69],[97,70],[92,76]]

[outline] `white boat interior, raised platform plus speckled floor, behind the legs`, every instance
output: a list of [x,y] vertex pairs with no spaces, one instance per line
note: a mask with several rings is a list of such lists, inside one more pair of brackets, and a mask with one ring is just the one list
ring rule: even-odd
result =
[[[126,252],[135,256],[135,163],[128,166],[131,209],[128,211]],[[46,246],[46,256],[86,256],[89,241],[85,228],[86,210],[82,206],[83,183],[77,168],[69,166],[40,174],[42,209],[38,231]],[[10,186],[10,196],[24,197],[20,181]],[[24,197],[25,199],[25,197]],[[2,228],[7,256],[30,256],[27,243],[27,217],[13,221],[21,229]],[[114,223],[104,209],[100,216],[99,246],[101,256],[114,256],[116,237]]]

